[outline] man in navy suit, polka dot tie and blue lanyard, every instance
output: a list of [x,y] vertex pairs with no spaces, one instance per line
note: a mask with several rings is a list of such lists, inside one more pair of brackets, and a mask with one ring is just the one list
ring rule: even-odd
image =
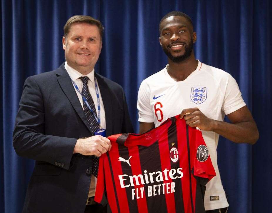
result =
[[93,201],[98,157],[111,148],[103,136],[133,128],[122,87],[94,72],[102,35],[100,21],[71,17],[64,26],[66,62],[25,81],[13,143],[36,164],[23,212],[106,211]]

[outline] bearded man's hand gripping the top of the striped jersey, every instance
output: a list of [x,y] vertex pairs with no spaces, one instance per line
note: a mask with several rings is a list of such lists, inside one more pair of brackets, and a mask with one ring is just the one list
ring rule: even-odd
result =
[[184,117],[190,127],[198,127],[204,131],[213,130],[214,120],[206,117],[198,108],[183,109],[179,117]]

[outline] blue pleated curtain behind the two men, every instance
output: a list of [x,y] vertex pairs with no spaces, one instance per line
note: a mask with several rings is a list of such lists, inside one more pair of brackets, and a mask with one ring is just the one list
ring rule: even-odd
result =
[[105,26],[96,71],[124,87],[135,129],[137,91],[167,58],[159,45],[162,16],[191,16],[196,58],[229,72],[257,123],[260,139],[250,146],[220,138],[218,164],[231,213],[271,212],[272,201],[272,3],[228,1],[1,0],[0,212],[21,212],[33,161],[18,157],[12,131],[26,77],[64,61],[63,26],[73,15],[90,15]]

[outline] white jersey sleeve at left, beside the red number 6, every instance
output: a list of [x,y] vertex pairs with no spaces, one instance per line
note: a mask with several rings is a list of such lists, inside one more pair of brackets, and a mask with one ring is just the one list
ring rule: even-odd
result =
[[146,81],[142,81],[138,91],[137,109],[139,111],[139,122],[154,122],[154,114],[150,105],[150,88]]

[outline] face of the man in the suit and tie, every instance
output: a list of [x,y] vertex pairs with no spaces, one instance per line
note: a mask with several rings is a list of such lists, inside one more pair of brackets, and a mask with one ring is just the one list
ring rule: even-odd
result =
[[82,74],[91,72],[99,58],[102,40],[96,25],[74,23],[62,39],[67,64]]

